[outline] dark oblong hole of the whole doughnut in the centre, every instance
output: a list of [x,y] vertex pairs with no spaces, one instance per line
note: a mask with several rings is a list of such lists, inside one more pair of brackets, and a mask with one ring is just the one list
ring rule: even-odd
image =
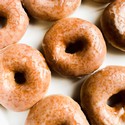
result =
[[65,52],[70,53],[70,54],[74,54],[74,53],[82,51],[85,47],[86,47],[86,44],[85,44],[84,40],[77,39],[73,42],[69,42],[66,45]]

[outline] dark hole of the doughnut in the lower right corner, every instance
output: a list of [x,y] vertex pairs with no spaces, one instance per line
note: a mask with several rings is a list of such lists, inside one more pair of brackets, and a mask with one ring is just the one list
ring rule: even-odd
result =
[[108,106],[117,107],[118,105],[125,105],[125,90],[112,95],[108,101]]

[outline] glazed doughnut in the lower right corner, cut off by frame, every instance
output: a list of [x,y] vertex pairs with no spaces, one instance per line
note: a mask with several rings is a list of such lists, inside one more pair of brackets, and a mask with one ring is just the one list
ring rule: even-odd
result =
[[81,105],[91,125],[125,124],[125,67],[108,66],[81,87]]

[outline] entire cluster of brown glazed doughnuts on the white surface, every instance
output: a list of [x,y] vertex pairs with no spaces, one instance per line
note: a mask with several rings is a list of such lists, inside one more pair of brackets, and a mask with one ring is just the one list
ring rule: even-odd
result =
[[[106,56],[104,37],[125,51],[125,0],[111,2],[105,8],[101,30],[86,20],[66,18],[80,3],[0,0],[0,17],[7,20],[0,29],[0,104],[18,112],[30,109],[25,125],[125,124],[125,67],[109,66],[94,73]],[[29,25],[23,7],[33,18],[57,21],[44,36],[44,56],[26,44],[17,44]],[[70,97],[45,97],[51,82],[49,68],[71,78],[93,73],[81,87],[83,111]]]

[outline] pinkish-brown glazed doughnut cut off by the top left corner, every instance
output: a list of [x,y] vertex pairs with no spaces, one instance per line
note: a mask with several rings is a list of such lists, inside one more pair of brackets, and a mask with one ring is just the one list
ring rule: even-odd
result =
[[0,49],[18,42],[25,33],[29,19],[20,0],[1,0],[0,17],[7,23],[0,29]]

